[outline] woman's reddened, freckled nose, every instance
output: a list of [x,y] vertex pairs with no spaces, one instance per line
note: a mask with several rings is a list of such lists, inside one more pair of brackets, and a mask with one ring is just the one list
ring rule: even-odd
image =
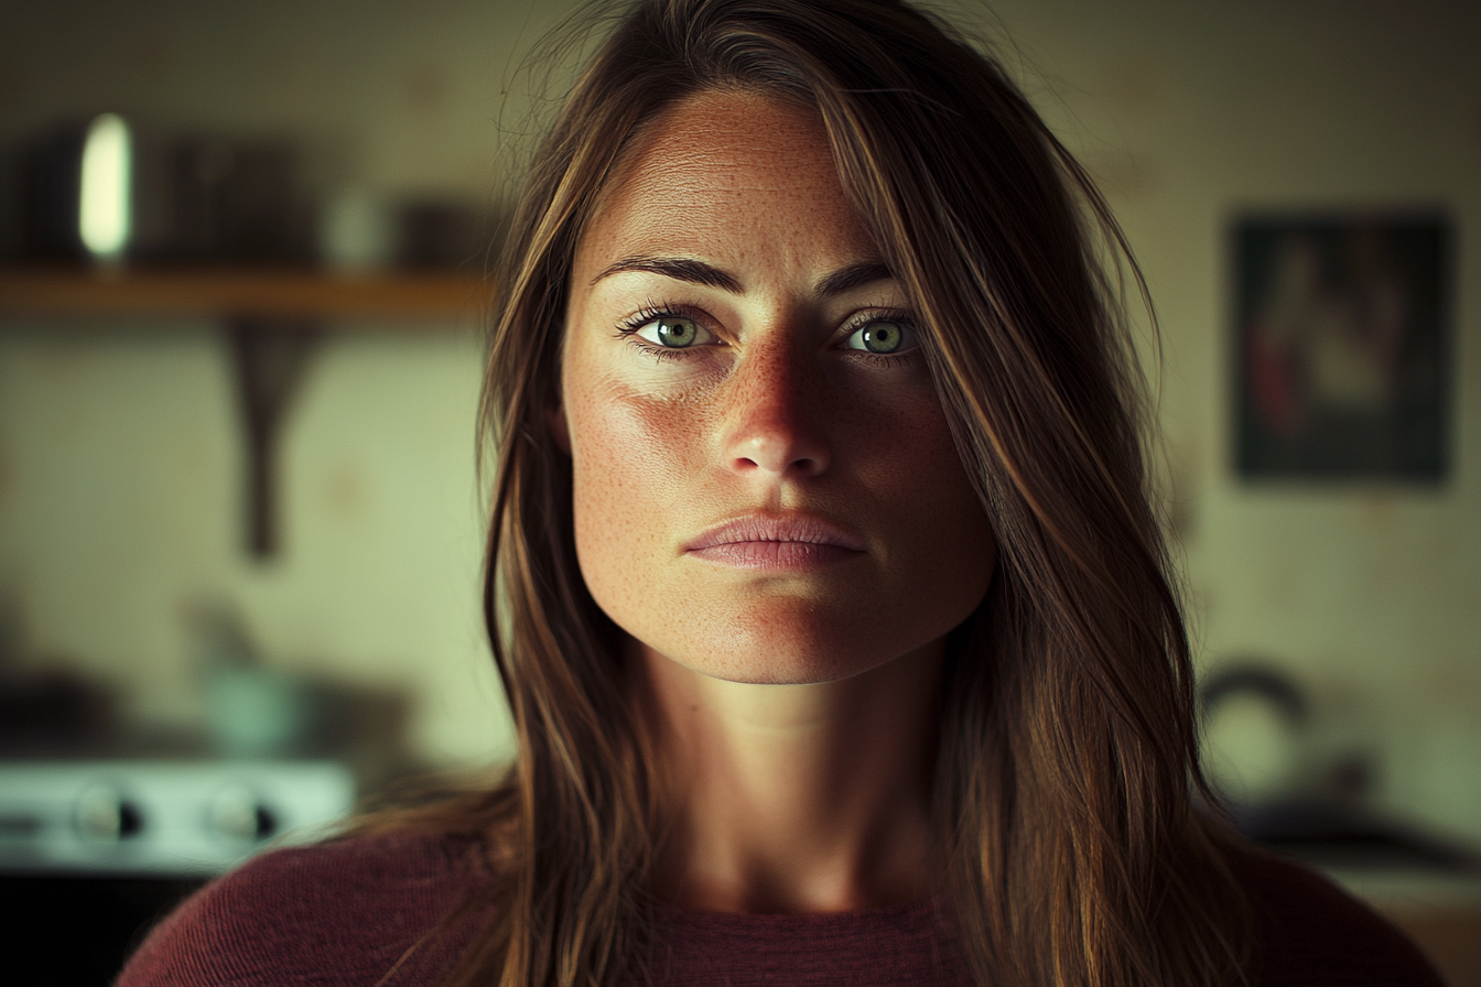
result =
[[803,479],[832,459],[822,429],[822,374],[789,346],[755,349],[733,371],[721,454],[729,469]]

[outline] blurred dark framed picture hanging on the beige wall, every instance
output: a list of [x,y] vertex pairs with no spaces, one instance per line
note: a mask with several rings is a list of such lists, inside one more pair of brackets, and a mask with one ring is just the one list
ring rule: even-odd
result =
[[1441,481],[1448,220],[1247,216],[1234,244],[1240,475]]

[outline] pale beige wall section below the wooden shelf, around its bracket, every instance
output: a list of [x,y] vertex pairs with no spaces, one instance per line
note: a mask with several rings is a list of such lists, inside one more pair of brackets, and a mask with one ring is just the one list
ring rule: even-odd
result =
[[[480,345],[462,327],[344,333],[283,438],[284,550],[241,550],[243,465],[215,327],[12,323],[0,334],[0,586],[33,660],[204,715],[193,607],[240,610],[271,664],[398,688],[437,762],[505,750],[477,620]],[[493,712],[490,712],[493,710]]]

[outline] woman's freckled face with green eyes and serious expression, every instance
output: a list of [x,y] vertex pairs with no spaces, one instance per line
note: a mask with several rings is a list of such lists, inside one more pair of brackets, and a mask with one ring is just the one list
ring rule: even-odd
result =
[[905,294],[810,112],[717,92],[653,121],[576,250],[561,394],[582,576],[674,661],[841,679],[988,589]]

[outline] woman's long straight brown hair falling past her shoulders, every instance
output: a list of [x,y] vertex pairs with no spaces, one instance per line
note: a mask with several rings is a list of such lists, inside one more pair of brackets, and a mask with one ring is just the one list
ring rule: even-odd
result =
[[641,0],[541,145],[498,275],[484,608],[518,755],[465,804],[501,877],[453,983],[629,971],[659,806],[552,441],[576,243],[634,136],[711,89],[816,111],[924,326],[997,571],[951,639],[936,814],[983,984],[1226,984],[1248,932],[1191,811],[1188,641],[1103,200],[998,64],[899,0]]

